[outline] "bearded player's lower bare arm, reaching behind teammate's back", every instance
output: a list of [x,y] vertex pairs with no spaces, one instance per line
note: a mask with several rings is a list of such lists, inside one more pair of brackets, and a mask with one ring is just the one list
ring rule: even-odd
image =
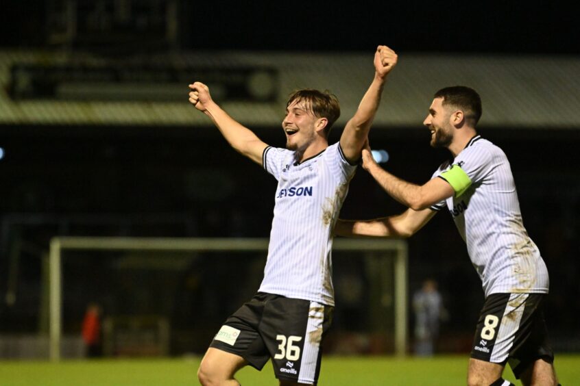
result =
[[338,220],[335,235],[363,237],[411,237],[437,214],[437,211],[407,209],[402,214],[373,220]]

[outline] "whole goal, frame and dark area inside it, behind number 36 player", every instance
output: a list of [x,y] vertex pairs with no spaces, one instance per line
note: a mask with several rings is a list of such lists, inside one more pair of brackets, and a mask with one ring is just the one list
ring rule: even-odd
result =
[[[49,355],[80,334],[84,307],[103,309],[108,356],[201,354],[258,289],[263,238],[55,237],[50,243]],[[407,350],[407,242],[333,243],[335,316],[325,352]]]

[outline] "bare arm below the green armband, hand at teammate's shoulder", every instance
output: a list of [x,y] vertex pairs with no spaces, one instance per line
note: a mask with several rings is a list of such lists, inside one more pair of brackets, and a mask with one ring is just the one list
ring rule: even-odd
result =
[[363,149],[363,168],[389,196],[416,211],[431,207],[455,194],[455,190],[444,179],[434,178],[424,185],[415,185],[391,175],[375,162],[368,144]]

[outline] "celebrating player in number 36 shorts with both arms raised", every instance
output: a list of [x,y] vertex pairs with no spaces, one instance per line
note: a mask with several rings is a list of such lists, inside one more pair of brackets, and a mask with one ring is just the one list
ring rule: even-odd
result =
[[235,150],[278,180],[262,284],[215,335],[197,372],[202,385],[239,385],[238,370],[261,370],[269,359],[280,385],[317,383],[335,305],[333,228],[397,55],[378,46],[373,62],[370,87],[340,141],[330,146],[328,132],[340,107],[328,92],[291,95],[282,121],[287,149],[277,149],[223,111],[206,85],[189,86],[195,109],[211,118]]

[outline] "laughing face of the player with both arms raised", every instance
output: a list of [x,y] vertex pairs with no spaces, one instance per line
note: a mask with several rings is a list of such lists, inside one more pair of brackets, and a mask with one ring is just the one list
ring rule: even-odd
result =
[[317,118],[306,101],[295,100],[286,109],[286,116],[282,120],[282,129],[286,134],[286,148],[292,151],[304,151],[313,143],[319,133],[317,128],[321,120]]

